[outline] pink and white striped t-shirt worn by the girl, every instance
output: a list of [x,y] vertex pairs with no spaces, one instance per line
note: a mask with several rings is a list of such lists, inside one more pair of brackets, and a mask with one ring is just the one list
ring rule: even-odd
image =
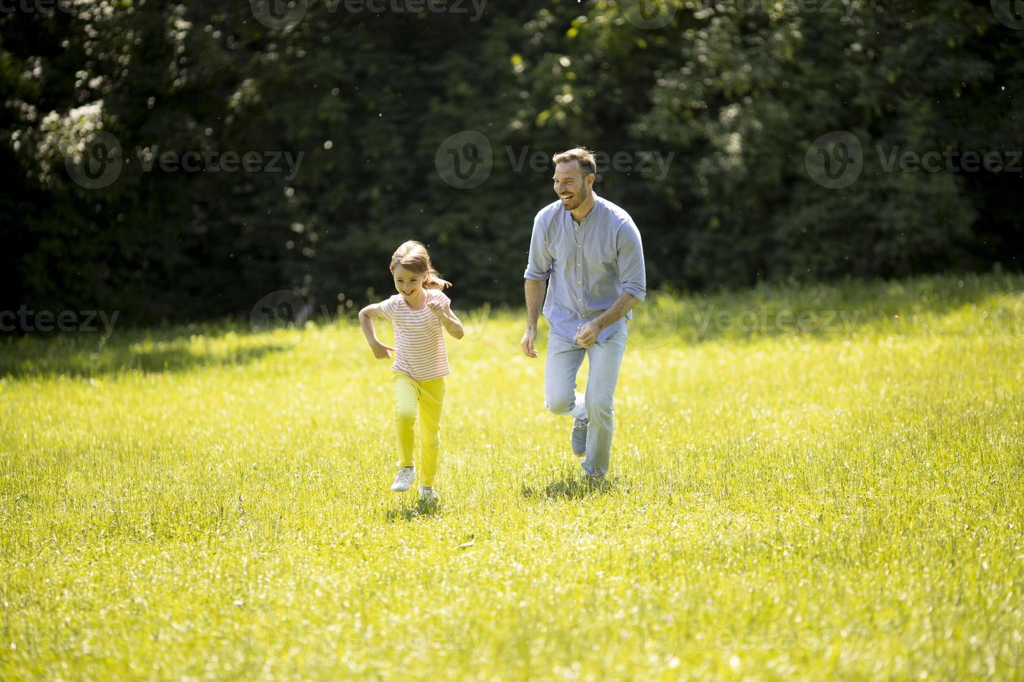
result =
[[410,308],[400,293],[381,304],[384,317],[394,325],[394,364],[392,369],[406,372],[417,381],[429,381],[451,374],[444,349],[440,318],[427,305],[436,301],[444,306],[451,300],[437,289],[423,289],[427,294],[422,308]]

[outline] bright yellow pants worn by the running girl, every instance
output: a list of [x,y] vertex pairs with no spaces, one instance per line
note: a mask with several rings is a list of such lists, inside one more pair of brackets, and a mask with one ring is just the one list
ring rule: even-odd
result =
[[398,431],[398,466],[413,466],[413,433],[416,412],[420,413],[420,463],[416,467],[421,486],[433,486],[440,450],[441,404],[444,377],[417,381],[404,372],[392,372],[394,381],[394,425]]

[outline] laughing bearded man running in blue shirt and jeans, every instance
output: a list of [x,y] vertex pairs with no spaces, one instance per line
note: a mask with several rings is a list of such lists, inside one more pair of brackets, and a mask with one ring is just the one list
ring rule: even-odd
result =
[[[612,398],[626,351],[630,310],[647,290],[643,246],[633,219],[594,194],[594,154],[555,154],[558,200],[534,219],[526,266],[526,331],[522,352],[537,357],[537,320],[551,325],[544,370],[545,407],[574,417],[570,443],[587,481],[601,480],[611,454]],[[545,291],[547,290],[547,297]],[[584,355],[587,394],[575,393]]]

